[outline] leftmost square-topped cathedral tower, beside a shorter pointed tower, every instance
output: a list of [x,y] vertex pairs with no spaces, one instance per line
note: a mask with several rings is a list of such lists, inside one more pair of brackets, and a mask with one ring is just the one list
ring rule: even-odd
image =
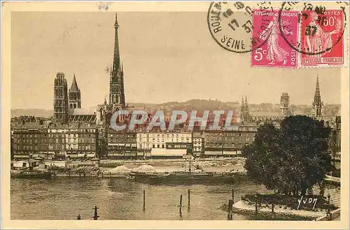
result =
[[55,122],[68,123],[68,88],[64,73],[56,75],[54,83],[53,115]]

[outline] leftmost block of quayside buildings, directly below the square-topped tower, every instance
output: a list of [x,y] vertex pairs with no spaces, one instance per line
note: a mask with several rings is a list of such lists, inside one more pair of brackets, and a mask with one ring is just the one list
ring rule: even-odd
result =
[[97,129],[90,127],[15,128],[13,129],[13,158],[93,158],[96,156],[97,139]]

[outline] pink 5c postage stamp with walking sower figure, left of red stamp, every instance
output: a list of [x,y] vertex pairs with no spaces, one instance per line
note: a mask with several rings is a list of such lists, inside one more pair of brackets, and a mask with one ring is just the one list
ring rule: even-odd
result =
[[282,12],[279,27],[279,14],[275,10],[254,10],[253,37],[264,41],[259,48],[253,45],[251,53],[251,66],[266,67],[297,67],[297,51],[293,50],[281,34],[288,36],[290,41],[298,39],[298,12]]

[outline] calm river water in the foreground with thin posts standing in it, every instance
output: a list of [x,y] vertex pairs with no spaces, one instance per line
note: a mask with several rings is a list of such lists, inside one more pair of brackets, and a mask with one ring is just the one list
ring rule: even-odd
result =
[[[146,210],[143,191],[146,189]],[[188,209],[190,189],[190,209]],[[232,197],[266,192],[252,182],[235,185],[147,185],[124,178],[11,179],[12,220],[92,220],[99,207],[99,220],[227,220],[221,210]],[[180,195],[183,208],[179,212]],[[246,220],[234,215],[234,220]]]

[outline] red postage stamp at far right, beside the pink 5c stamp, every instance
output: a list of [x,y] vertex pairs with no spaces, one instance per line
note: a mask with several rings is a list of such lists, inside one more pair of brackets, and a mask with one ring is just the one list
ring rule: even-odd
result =
[[301,66],[339,66],[344,64],[344,13],[301,12]]

